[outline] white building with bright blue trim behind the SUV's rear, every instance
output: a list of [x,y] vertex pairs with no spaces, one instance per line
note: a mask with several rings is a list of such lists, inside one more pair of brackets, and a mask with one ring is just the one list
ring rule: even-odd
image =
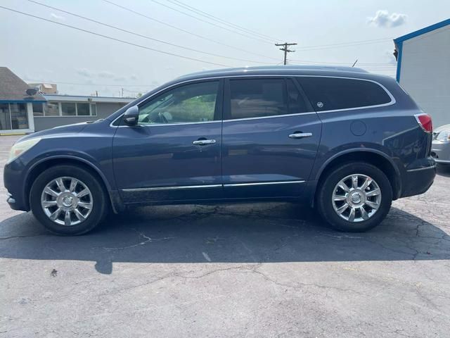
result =
[[397,81],[438,127],[450,123],[450,19],[394,39]]

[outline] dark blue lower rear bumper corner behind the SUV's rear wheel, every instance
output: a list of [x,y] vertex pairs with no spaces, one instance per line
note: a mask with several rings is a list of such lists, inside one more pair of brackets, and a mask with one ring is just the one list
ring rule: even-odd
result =
[[420,195],[426,192],[433,184],[436,176],[436,164],[429,167],[406,171],[401,197]]

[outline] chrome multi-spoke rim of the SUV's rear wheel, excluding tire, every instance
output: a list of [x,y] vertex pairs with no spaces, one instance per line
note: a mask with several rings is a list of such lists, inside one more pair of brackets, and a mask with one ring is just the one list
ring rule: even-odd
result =
[[352,223],[362,222],[380,208],[381,190],[377,182],[367,175],[349,175],[336,184],[332,202],[341,218]]

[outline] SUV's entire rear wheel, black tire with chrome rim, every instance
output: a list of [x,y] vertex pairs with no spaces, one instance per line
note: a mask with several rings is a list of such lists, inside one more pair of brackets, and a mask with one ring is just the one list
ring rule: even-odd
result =
[[[368,187],[364,187],[366,182],[370,182]],[[330,170],[321,181],[316,202],[323,220],[335,230],[364,232],[385,219],[392,204],[392,186],[385,173],[374,165],[345,163]]]

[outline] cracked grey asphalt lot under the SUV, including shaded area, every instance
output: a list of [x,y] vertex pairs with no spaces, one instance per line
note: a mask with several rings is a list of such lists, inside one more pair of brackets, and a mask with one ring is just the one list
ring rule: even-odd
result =
[[130,209],[56,237],[3,200],[0,337],[449,337],[449,191],[441,168],[362,234],[240,204]]

